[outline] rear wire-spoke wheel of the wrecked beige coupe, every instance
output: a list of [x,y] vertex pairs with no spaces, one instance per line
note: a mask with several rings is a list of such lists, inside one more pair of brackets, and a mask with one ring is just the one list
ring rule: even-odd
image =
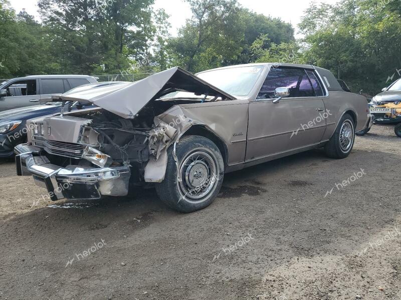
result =
[[326,155],[331,158],[345,158],[351,152],[355,141],[355,125],[346,113],[340,119],[333,136],[324,146]]

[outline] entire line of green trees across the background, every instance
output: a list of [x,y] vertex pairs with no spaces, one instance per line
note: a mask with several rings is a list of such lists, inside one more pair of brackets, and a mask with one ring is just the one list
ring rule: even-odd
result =
[[299,24],[302,40],[295,40],[291,24],[237,0],[185,0],[192,15],[175,37],[166,12],[153,11],[154,0],[38,1],[41,23],[0,0],[0,78],[82,73],[131,79],[176,65],[196,72],[293,62],[331,69],[354,91],[374,94],[401,75],[401,0],[312,3]]

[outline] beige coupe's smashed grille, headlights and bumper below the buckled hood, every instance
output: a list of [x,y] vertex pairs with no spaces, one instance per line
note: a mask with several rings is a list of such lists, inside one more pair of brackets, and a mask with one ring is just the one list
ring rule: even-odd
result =
[[35,119],[29,127],[29,142],[15,148],[17,174],[33,175],[53,200],[125,196],[130,183],[157,182],[144,178],[145,168],[166,162],[177,135],[158,117],[134,121],[97,110]]

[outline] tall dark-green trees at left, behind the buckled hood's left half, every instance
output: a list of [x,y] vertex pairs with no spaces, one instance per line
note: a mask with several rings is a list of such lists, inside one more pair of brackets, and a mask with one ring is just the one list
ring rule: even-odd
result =
[[[66,70],[91,73],[129,65],[129,45],[146,51],[153,0],[39,0],[48,34]],[[102,66],[103,68],[103,66]]]

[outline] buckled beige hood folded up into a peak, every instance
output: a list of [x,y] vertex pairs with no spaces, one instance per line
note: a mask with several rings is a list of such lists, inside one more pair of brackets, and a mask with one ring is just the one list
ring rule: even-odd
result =
[[173,67],[132,83],[66,92],[61,96],[53,96],[53,101],[93,103],[123,118],[134,118],[147,103],[173,91],[235,99],[190,72]]

